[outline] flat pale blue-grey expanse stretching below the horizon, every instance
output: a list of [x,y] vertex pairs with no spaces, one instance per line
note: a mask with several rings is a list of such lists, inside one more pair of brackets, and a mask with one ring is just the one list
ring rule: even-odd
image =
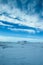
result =
[[0,65],[43,65],[43,43],[0,42]]

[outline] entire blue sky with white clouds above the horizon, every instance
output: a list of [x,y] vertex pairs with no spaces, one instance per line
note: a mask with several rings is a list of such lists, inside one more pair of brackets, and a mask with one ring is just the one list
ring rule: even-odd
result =
[[43,40],[43,0],[0,0],[0,40]]

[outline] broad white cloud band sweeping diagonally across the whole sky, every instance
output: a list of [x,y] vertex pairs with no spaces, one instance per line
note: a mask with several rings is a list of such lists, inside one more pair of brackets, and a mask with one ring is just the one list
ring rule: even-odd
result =
[[[19,10],[18,8],[13,8],[11,9],[10,6],[8,5],[0,5],[0,12],[7,12],[9,13],[9,16],[11,16],[12,18],[9,18],[5,15],[0,16],[0,20],[3,21],[8,21],[10,23],[17,23],[17,24],[22,24],[25,26],[30,26],[30,27],[35,27],[35,28],[39,28],[43,30],[43,20],[41,20],[39,18],[38,15],[34,14],[34,15],[27,15],[24,12],[22,12],[21,10]],[[3,7],[4,6],[4,7]],[[13,19],[19,17],[22,21],[17,20],[17,19]]]

